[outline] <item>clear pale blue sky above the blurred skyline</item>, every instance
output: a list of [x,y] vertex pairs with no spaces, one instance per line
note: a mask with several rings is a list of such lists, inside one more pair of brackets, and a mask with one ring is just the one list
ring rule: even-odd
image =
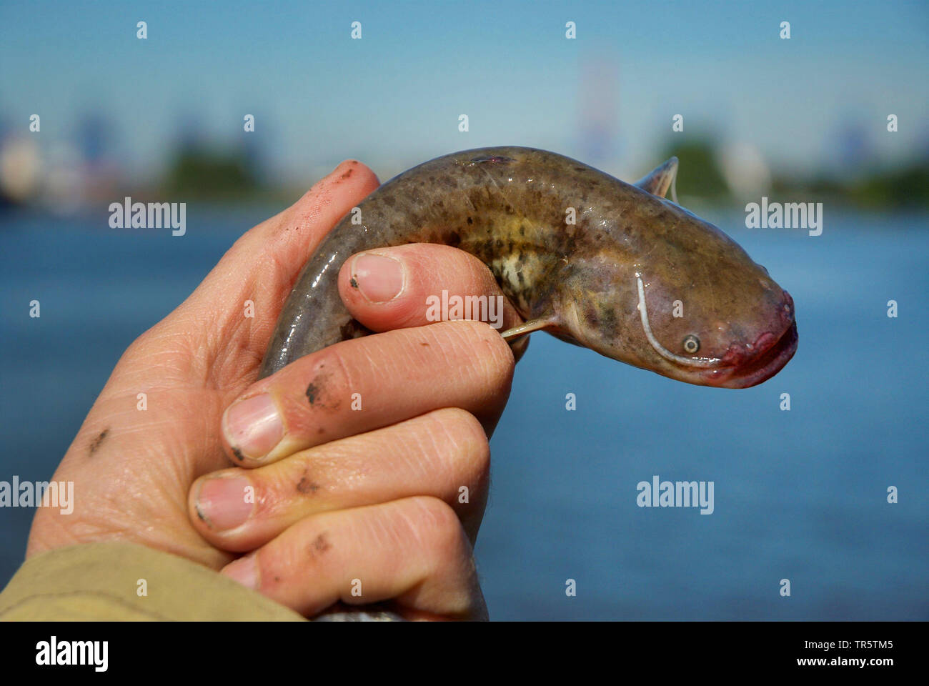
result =
[[[288,179],[346,157],[384,178],[509,143],[587,159],[590,121],[615,136],[603,168],[642,172],[660,161],[675,113],[686,131],[748,141],[797,169],[822,165],[852,123],[893,162],[929,140],[927,7],[5,0],[0,123],[25,129],[38,112],[48,142],[96,112],[111,124],[113,153],[141,176],[164,165],[179,127],[226,145],[242,138],[245,113]],[[148,40],[137,40],[137,20]],[[360,41],[349,37],[353,20]],[[576,40],[565,38],[568,20]],[[899,117],[896,135],[884,132],[888,113]]]

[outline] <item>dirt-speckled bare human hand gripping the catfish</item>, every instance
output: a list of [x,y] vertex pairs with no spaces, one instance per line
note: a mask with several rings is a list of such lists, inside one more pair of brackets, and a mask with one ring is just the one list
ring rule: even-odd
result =
[[[177,310],[139,336],[55,474],[74,482],[74,511],[37,510],[27,556],[124,540],[226,567],[307,615],[339,599],[395,599],[408,616],[483,615],[471,543],[487,495],[485,430],[503,410],[513,357],[485,324],[403,327],[425,323],[417,319],[419,293],[497,295],[486,267],[446,246],[375,251],[403,259],[404,293],[378,304],[343,287],[343,297],[369,328],[402,330],[337,344],[250,386],[307,256],[376,186],[367,167],[339,165],[293,207],[245,233]],[[438,281],[440,274],[450,276]],[[254,318],[243,316],[247,300]],[[518,321],[512,310],[507,318]],[[304,376],[327,361],[344,376],[311,404]],[[242,439],[260,437],[255,422],[235,429],[223,413],[236,399],[252,400],[254,413],[264,391],[280,408],[281,441],[267,455],[258,445],[244,468],[194,483],[227,466],[229,438],[248,453]],[[361,393],[360,412],[347,409],[352,392]],[[239,526],[228,524],[242,507],[216,491],[231,478],[255,488],[251,516]],[[458,502],[462,486],[468,503]],[[255,547],[229,564],[232,552]],[[350,595],[347,574],[361,580],[360,597]]]

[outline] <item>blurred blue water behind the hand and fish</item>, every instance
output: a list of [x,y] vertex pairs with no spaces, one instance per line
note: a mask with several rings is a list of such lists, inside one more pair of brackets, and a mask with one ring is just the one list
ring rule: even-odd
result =
[[[124,348],[270,214],[191,209],[183,239],[0,217],[0,480],[50,477]],[[929,619],[929,218],[827,213],[814,238],[704,214],[791,292],[796,356],[760,387],[705,389],[532,336],[491,442],[491,617]],[[636,507],[656,474],[713,481],[715,511]],[[0,511],[0,584],[31,517]]]

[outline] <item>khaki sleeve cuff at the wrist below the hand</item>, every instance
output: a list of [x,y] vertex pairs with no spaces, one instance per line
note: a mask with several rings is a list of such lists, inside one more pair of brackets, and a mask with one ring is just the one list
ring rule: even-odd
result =
[[202,565],[130,543],[42,553],[23,562],[0,593],[4,621],[302,619]]

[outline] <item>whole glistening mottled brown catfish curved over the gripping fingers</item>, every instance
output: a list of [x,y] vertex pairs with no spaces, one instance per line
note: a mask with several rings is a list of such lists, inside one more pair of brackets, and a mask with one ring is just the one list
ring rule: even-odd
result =
[[[455,152],[387,181],[320,244],[281,311],[261,376],[368,332],[338,294],[354,253],[440,243],[481,259],[526,323],[701,386],[747,388],[797,348],[793,301],[709,222],[664,198],[671,159],[636,184],[554,152]],[[356,218],[358,222],[358,218]]]

